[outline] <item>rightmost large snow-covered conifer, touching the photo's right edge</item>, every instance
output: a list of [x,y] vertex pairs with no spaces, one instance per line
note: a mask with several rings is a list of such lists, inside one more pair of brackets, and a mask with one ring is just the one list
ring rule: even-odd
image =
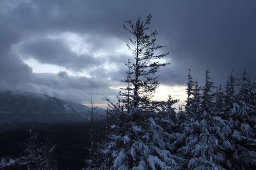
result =
[[[254,89],[255,90],[255,89]],[[256,167],[256,131],[255,104],[253,104],[253,85],[250,76],[244,71],[241,89],[232,98],[229,123],[232,127],[230,142],[234,148],[227,166],[236,169],[253,169]]]

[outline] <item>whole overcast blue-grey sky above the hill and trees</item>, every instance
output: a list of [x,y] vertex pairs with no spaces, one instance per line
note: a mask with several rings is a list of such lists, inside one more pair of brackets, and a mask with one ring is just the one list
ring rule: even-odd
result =
[[[188,68],[216,85],[234,69],[256,74],[256,1],[0,1],[0,89],[75,103],[106,103],[125,76],[125,20],[152,14],[170,65],[159,72],[157,99],[182,99]],[[183,94],[182,94],[183,93]]]

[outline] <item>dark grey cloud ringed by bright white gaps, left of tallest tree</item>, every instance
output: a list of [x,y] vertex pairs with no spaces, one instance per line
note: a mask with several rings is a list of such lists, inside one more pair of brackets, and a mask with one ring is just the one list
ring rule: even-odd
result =
[[88,66],[93,67],[103,62],[90,55],[72,52],[63,39],[33,39],[21,43],[16,50],[23,59],[36,59],[42,64],[63,66],[73,71],[81,71]]

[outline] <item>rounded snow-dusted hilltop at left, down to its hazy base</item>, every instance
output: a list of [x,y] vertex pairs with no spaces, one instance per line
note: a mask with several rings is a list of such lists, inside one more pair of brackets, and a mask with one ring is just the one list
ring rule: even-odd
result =
[[0,112],[3,113],[76,113],[70,104],[45,94],[21,91],[0,91]]

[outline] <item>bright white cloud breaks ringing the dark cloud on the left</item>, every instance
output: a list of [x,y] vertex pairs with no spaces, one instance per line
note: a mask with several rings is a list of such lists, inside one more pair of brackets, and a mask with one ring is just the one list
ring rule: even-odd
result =
[[[80,35],[74,32],[62,32],[60,34],[47,34],[45,35],[48,39],[61,39],[61,41],[65,42],[65,44],[70,48],[71,52],[76,53],[77,55],[90,55],[95,58],[109,57],[111,55],[115,55],[117,57],[123,57],[127,55],[131,55],[131,52],[127,49],[125,42],[118,38],[100,38],[99,35]],[[20,58],[28,64],[33,69],[33,73],[59,73],[60,71],[66,71],[70,75],[76,76],[90,76],[86,72],[76,73],[74,71],[70,71],[69,69],[58,66],[54,64],[42,64],[36,59],[26,59],[26,57],[22,56],[22,53],[19,52],[19,45],[22,43],[26,43],[26,41],[31,41],[38,37],[34,37],[31,39],[27,39],[13,45],[12,49],[15,53],[17,53]],[[40,38],[40,37],[39,37]],[[99,46],[95,48],[95,45],[91,44],[92,39],[100,39]],[[124,59],[125,60],[125,59]],[[118,66],[113,61],[106,61],[102,66],[104,69],[109,71],[118,71]],[[92,68],[93,69],[93,68]]]

